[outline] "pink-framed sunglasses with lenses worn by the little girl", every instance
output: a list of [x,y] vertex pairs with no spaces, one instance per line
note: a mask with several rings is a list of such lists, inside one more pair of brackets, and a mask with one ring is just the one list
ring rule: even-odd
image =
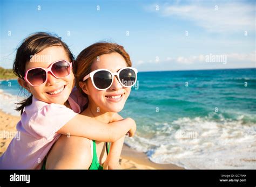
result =
[[37,87],[44,84],[48,78],[48,72],[50,72],[56,78],[64,78],[68,76],[72,69],[72,62],[66,60],[58,60],[51,63],[48,68],[31,68],[25,73],[25,81],[32,87]]

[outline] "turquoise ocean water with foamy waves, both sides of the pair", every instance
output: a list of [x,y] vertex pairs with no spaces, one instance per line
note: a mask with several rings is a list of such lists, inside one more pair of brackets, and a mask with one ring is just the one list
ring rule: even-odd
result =
[[[16,80],[2,81],[1,109],[17,115],[17,94]],[[125,143],[153,162],[256,169],[256,69],[138,73],[120,114],[137,123]]]

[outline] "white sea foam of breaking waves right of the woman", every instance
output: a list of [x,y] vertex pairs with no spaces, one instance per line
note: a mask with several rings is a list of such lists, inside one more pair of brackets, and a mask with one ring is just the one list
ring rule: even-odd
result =
[[[126,143],[156,163],[187,169],[256,169],[256,124],[244,124],[242,116],[235,121],[219,117],[218,122],[197,117],[180,118],[168,125],[157,123],[156,128],[165,128],[165,133],[153,138],[134,136]],[[174,130],[173,125],[180,128]]]

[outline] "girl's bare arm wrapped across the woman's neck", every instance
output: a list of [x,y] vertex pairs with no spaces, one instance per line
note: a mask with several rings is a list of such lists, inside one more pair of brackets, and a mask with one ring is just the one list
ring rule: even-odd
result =
[[72,136],[82,136],[87,139],[114,142],[127,132],[133,136],[136,131],[136,123],[131,118],[122,119],[110,124],[104,124],[91,117],[77,114],[58,133]]

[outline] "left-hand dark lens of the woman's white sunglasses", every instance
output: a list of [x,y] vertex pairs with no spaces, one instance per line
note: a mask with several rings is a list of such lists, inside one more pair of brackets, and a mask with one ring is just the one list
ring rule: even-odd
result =
[[99,89],[106,89],[112,83],[112,75],[108,71],[98,71],[93,76],[93,82]]

